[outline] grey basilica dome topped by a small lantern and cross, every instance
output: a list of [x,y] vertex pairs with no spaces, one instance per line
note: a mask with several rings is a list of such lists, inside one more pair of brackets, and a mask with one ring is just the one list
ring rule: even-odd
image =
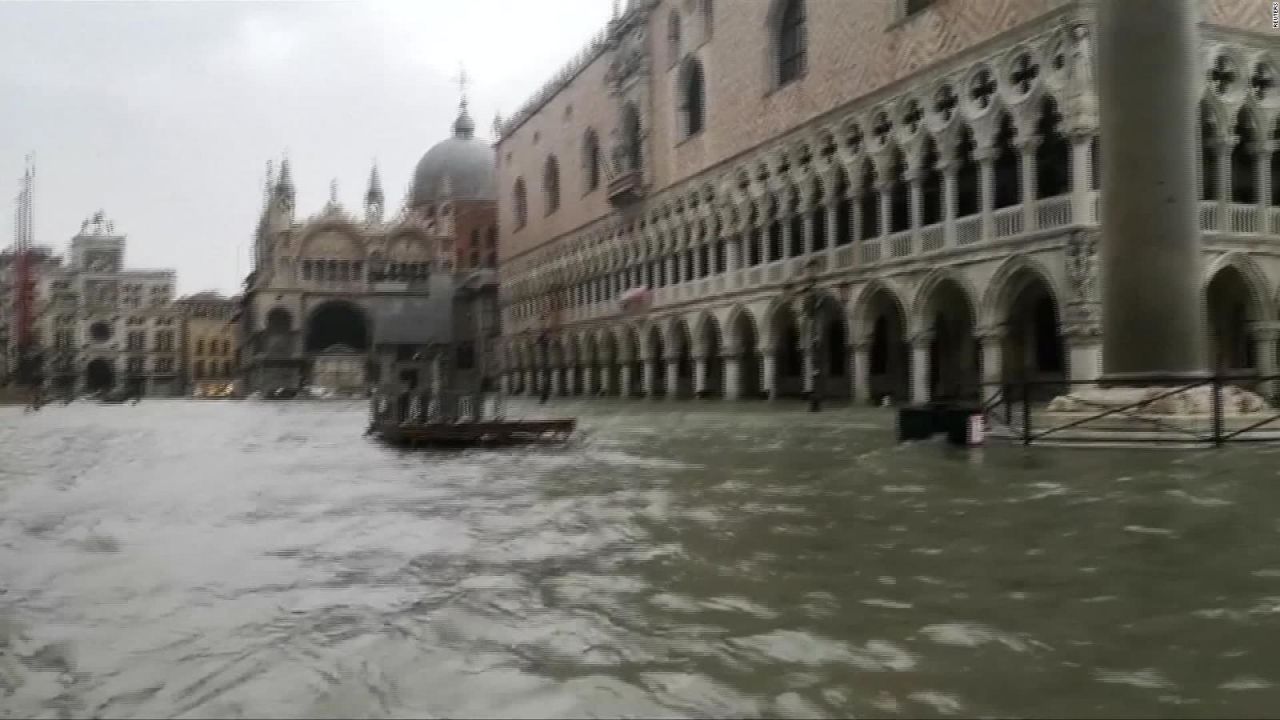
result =
[[410,208],[445,200],[497,200],[493,147],[476,140],[475,131],[476,124],[463,104],[453,123],[453,137],[436,143],[417,161]]

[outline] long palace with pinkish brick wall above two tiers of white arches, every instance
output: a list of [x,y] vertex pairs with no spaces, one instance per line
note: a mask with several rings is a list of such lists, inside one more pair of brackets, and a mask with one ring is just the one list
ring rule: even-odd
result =
[[[630,1],[500,128],[506,387],[878,402],[1096,379],[1092,8]],[[1257,3],[1202,8],[1213,364],[1271,374],[1280,46]]]

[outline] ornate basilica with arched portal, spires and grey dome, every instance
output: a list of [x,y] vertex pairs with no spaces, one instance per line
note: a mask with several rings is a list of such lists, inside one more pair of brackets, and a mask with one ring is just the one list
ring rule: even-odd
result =
[[453,136],[422,156],[393,217],[376,168],[361,214],[334,191],[301,220],[288,161],[268,176],[239,314],[247,391],[495,374],[493,150],[475,138],[465,100]]

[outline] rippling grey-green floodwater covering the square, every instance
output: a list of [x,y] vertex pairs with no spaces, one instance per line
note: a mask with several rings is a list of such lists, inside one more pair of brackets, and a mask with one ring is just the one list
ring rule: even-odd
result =
[[883,411],[0,407],[0,716],[1262,716],[1280,455],[897,447]]

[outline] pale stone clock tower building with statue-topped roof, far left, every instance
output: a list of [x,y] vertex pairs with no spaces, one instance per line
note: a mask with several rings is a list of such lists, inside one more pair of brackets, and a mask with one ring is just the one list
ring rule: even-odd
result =
[[125,236],[99,211],[72,238],[65,265],[49,264],[37,275],[37,348],[55,391],[182,389],[177,273],[128,269],[124,249]]

